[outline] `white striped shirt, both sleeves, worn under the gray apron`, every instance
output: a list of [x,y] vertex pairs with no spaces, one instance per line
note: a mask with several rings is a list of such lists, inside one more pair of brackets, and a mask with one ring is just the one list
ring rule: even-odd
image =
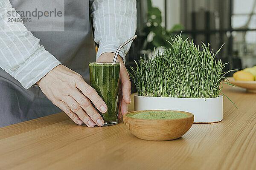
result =
[[[99,44],[96,57],[115,52],[122,42],[135,34],[136,0],[90,0],[90,5],[94,41]],[[23,23],[7,23],[4,20],[6,10],[15,9],[9,0],[0,0],[0,67],[28,89],[61,63],[39,44],[40,40]],[[131,43],[119,53],[124,60],[130,46]]]

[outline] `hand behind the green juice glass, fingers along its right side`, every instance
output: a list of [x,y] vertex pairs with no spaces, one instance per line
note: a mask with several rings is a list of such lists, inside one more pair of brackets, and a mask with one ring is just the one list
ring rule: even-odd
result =
[[[96,62],[113,62],[114,55],[111,52],[103,53]],[[128,104],[131,102],[131,82],[122,57],[118,56],[116,62],[120,62],[119,119],[121,119],[120,113],[122,115],[127,113]]]

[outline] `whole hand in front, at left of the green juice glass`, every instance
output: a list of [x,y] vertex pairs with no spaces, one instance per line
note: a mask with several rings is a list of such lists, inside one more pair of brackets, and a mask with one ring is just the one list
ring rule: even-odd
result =
[[81,125],[84,122],[88,127],[104,124],[90,101],[102,113],[107,111],[107,105],[75,71],[58,65],[37,84],[52,103],[61,108],[76,124]]

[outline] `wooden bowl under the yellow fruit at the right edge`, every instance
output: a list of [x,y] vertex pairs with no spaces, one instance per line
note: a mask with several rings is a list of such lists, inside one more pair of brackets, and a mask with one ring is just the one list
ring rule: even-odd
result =
[[237,81],[233,77],[227,77],[231,84],[246,88],[247,92],[256,93],[256,81]]

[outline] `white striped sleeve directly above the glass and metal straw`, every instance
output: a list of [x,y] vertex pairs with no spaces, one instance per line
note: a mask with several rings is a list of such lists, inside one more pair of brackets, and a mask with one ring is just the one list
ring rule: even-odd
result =
[[[96,57],[105,52],[116,52],[119,45],[135,34],[136,0],[91,0],[90,4],[94,41],[99,44]],[[131,42],[119,53],[124,62],[130,47]]]

